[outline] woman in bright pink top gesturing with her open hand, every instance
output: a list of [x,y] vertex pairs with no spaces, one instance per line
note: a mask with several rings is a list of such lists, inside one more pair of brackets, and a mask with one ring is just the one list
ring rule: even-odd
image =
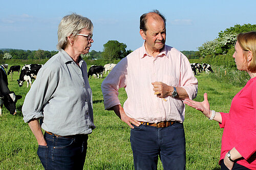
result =
[[250,80],[234,96],[229,113],[210,110],[207,93],[203,102],[185,99],[184,103],[224,128],[221,169],[256,169],[256,32],[238,34],[235,49],[237,68],[247,71]]

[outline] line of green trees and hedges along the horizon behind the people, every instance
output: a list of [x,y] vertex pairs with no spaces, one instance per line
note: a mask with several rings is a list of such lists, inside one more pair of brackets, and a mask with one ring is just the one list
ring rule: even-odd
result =
[[[188,59],[198,59],[198,62],[209,63],[213,65],[223,65],[236,67],[232,55],[234,53],[234,44],[236,36],[242,32],[256,31],[256,25],[250,23],[243,26],[234,25],[221,31],[218,37],[212,41],[204,42],[198,47],[198,51],[181,51]],[[85,60],[101,59],[106,63],[113,63],[129,55],[132,50],[126,50],[127,45],[117,40],[110,40],[103,45],[103,52],[92,50],[86,55],[82,55]],[[49,59],[57,51],[30,51],[17,49],[0,49],[0,60],[6,59]]]

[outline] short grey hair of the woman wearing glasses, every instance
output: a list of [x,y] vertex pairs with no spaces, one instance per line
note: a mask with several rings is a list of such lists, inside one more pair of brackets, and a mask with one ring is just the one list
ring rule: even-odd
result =
[[72,13],[63,17],[58,27],[58,44],[57,49],[65,49],[69,43],[68,36],[75,37],[82,29],[93,32],[92,21],[84,16]]

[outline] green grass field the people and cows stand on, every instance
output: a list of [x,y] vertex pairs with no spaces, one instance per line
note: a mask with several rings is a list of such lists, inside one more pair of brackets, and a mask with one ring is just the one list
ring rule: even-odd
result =
[[[199,81],[197,101],[208,93],[211,109],[228,112],[233,96],[242,88],[217,82],[208,75],[196,76]],[[4,107],[0,117],[0,169],[43,169],[36,155],[37,142],[23,121],[22,105],[29,88],[26,83],[18,87],[17,72],[9,89],[23,98],[16,104],[17,115],[9,114]],[[130,128],[115,115],[105,111],[100,85],[102,79],[90,79],[93,90],[94,123],[96,129],[89,135],[88,150],[84,169],[134,169],[130,145]],[[120,89],[119,99],[125,101],[124,89]],[[186,169],[220,169],[218,165],[222,129],[217,122],[209,121],[201,112],[186,107]],[[158,169],[163,169],[159,160]]]

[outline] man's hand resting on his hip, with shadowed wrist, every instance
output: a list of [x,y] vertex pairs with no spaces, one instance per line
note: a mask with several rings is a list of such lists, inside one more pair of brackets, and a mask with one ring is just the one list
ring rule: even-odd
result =
[[[133,125],[140,126],[140,122],[126,115],[121,105],[116,105],[112,107],[110,110],[114,110],[116,115],[127,125],[129,125],[132,129],[134,129]],[[133,125],[132,125],[133,124]]]

